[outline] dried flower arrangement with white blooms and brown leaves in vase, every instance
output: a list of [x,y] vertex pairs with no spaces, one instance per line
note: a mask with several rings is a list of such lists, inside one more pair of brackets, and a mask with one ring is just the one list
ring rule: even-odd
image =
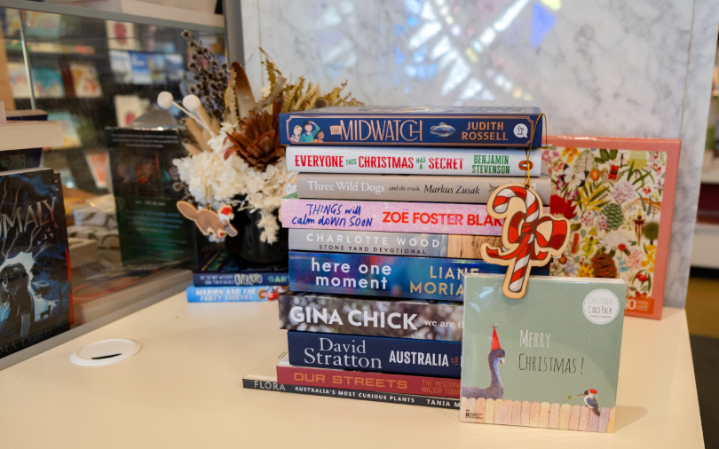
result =
[[[262,51],[269,85],[257,101],[244,67],[233,62],[220,64],[207,46],[188,31],[182,36],[193,51],[188,68],[196,83],[190,87],[182,106],[170,92],[162,92],[159,106],[178,106],[188,117],[186,128],[191,141],[189,155],[174,161],[180,178],[186,182],[197,209],[260,211],[257,226],[260,240],[277,241],[280,224],[274,212],[280,207],[287,177],[285,148],[280,145],[279,114],[323,106],[361,105],[350,95],[341,96],[346,83],[325,96],[317,85],[300,76],[289,83],[279,68]],[[184,106],[184,107],[183,107]],[[217,214],[218,223],[229,225],[230,217]],[[222,221],[225,220],[225,221]],[[222,233],[211,235],[221,240]]]

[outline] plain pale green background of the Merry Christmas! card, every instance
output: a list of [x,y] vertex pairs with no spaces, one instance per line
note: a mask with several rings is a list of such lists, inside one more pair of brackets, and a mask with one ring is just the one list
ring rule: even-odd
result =
[[[491,326],[498,324],[497,336],[506,352],[504,364],[499,365],[504,399],[583,406],[582,397],[571,400],[568,397],[595,389],[600,407],[615,406],[625,286],[573,279],[532,276],[525,297],[510,299],[502,295],[504,276],[468,275],[464,290],[462,387],[489,386],[487,356],[492,344]],[[584,297],[597,288],[610,290],[619,298],[620,312],[611,323],[597,325],[584,316]],[[519,331],[527,329],[549,333],[549,349],[520,347]],[[522,353],[547,357],[548,366],[549,357],[576,358],[576,373],[521,371]],[[580,369],[582,357],[584,367]]]

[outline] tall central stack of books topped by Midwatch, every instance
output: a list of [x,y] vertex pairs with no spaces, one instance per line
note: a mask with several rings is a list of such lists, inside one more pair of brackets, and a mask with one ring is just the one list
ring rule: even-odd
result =
[[539,114],[347,106],[280,116],[295,192],[281,204],[291,292],[280,295],[278,389],[459,408],[464,274],[506,272],[481,260],[484,243],[502,247],[486,201],[528,169],[549,204]]

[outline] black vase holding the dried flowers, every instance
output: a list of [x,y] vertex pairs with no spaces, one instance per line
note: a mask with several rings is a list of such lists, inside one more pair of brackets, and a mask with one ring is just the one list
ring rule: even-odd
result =
[[[277,219],[277,211],[273,213]],[[277,241],[272,245],[260,239],[262,230],[257,226],[260,211],[235,211],[230,223],[237,230],[235,237],[225,238],[225,250],[249,268],[282,268],[288,265],[289,232],[280,227]]]

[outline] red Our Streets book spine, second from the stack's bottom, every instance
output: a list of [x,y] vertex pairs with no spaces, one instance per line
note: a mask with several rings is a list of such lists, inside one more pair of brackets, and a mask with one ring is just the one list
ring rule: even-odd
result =
[[320,388],[459,398],[460,381],[420,375],[337,371],[304,366],[277,366],[277,382]]

